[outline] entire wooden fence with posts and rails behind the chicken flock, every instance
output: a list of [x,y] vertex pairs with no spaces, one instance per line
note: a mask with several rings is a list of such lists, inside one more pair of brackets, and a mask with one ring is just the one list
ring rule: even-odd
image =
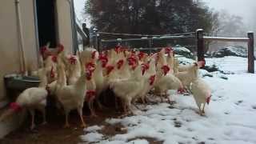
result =
[[[205,53],[205,43],[204,42],[212,42],[212,41],[220,41],[220,42],[246,42],[248,44],[248,72],[254,73],[254,33],[248,32],[247,38],[225,38],[225,37],[209,37],[204,36],[204,31],[202,29],[196,30],[196,32],[192,33],[184,33],[184,34],[170,34],[170,35],[151,35],[154,37],[151,38],[126,38],[126,39],[110,39],[110,40],[103,40],[99,37],[99,34],[105,34],[103,32],[98,32],[97,30],[94,31],[94,47],[98,50],[101,50],[102,42],[114,42],[115,44],[121,42],[131,42],[131,41],[146,41],[148,43],[148,47],[151,49],[152,42],[158,39],[183,39],[184,38],[195,38],[196,39],[196,47],[198,53],[198,61],[205,60],[204,53]],[[112,34],[112,33],[108,33]],[[195,37],[193,36],[195,34]],[[118,34],[119,35],[119,34]],[[128,35],[128,34],[126,34]],[[131,36],[138,36],[137,34],[129,34]]]

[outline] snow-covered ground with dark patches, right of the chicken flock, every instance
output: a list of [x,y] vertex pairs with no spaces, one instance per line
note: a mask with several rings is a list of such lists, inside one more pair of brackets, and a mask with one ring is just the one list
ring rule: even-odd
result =
[[[219,73],[204,77],[212,89],[206,116],[199,116],[194,98],[170,91],[177,102],[139,106],[134,116],[107,119],[110,125],[122,124],[126,134],[106,136],[103,126],[90,126],[81,136],[85,143],[147,144],[147,138],[166,144],[255,144],[256,74],[247,74],[247,59],[238,57],[206,58],[207,65],[231,71],[226,78]],[[203,73],[205,73],[202,70]]]

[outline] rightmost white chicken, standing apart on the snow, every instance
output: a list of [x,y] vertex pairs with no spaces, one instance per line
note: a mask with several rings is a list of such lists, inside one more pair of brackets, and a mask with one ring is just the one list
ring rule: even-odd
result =
[[209,105],[211,98],[210,86],[202,78],[197,78],[192,82],[191,89],[194,100],[198,105],[199,113],[201,115],[205,114],[206,103]]

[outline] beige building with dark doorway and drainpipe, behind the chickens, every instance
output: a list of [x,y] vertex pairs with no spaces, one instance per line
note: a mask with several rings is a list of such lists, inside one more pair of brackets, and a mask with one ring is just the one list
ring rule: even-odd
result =
[[[74,53],[78,49],[78,29],[73,0],[1,1],[0,108],[6,106],[8,100],[4,76],[20,74],[22,70],[37,70],[40,66],[39,47],[46,42],[50,42],[50,47],[62,43],[66,52]],[[0,123],[0,137],[14,129],[10,126]],[[6,132],[2,134],[4,130]]]

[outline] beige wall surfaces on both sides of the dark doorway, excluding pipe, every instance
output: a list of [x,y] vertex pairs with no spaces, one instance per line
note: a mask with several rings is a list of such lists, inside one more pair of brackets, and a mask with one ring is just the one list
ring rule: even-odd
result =
[[[56,0],[58,42],[65,46],[66,53],[73,51],[70,2]],[[34,26],[34,0],[20,0],[22,30],[26,65],[31,70],[38,68],[38,48]],[[17,21],[14,0],[1,0],[0,5],[0,102],[6,94],[3,77],[20,71],[21,52],[18,46]]]

